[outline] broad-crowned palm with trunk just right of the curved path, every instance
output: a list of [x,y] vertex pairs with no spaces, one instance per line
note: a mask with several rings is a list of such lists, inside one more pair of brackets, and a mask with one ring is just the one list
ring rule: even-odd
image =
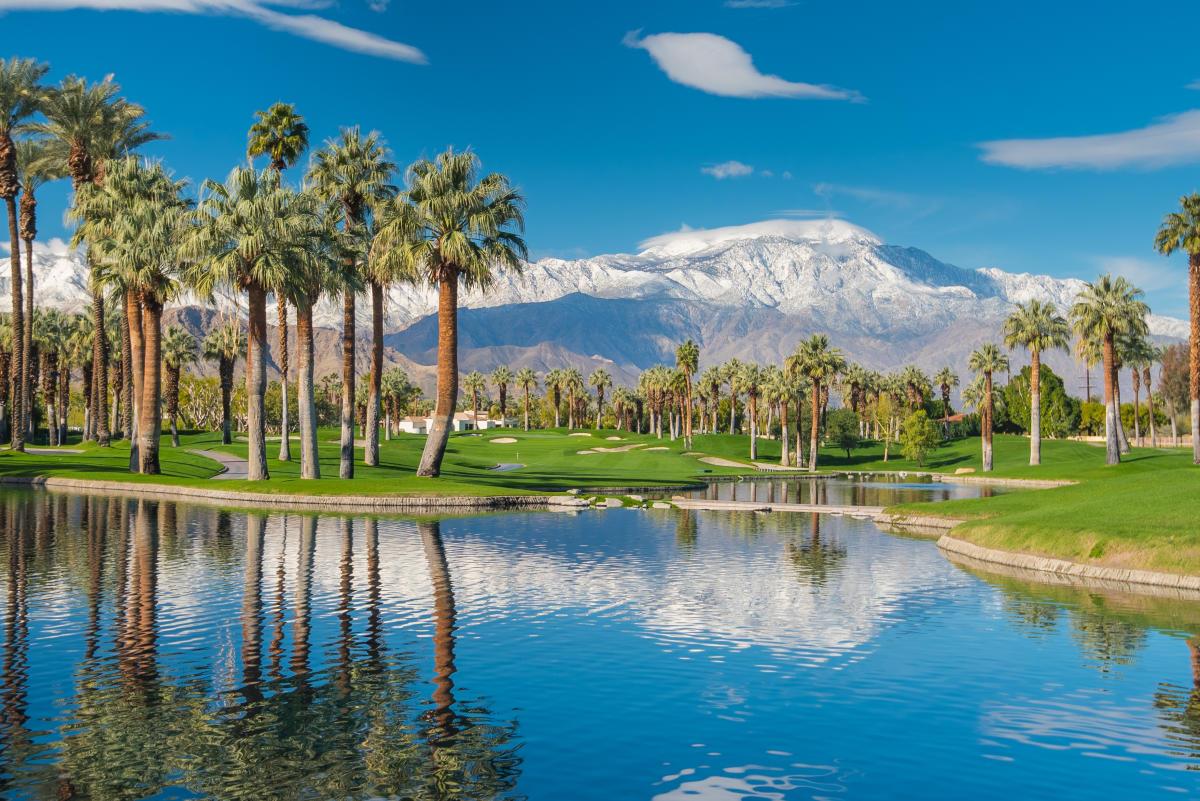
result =
[[[203,295],[217,284],[247,295],[246,427],[248,478],[270,477],[266,468],[266,293],[287,291],[295,265],[311,258],[317,231],[312,204],[280,187],[274,174],[238,168],[224,183],[205,181],[205,197],[181,254],[188,283]],[[353,424],[353,409],[352,424]]]

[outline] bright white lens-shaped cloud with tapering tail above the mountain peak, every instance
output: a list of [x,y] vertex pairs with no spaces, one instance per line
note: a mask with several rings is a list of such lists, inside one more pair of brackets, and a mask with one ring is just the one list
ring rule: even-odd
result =
[[858,92],[785,80],[758,72],[737,42],[716,34],[625,35],[625,47],[646,50],[677,84],[722,97],[862,100]]

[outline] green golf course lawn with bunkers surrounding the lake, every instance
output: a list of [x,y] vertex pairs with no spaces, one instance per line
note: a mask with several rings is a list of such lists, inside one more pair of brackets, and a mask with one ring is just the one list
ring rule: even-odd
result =
[[[265,494],[312,495],[511,495],[560,493],[578,488],[629,488],[695,484],[704,478],[751,472],[702,463],[684,456],[683,441],[671,442],[628,432],[590,432],[570,436],[563,429],[497,430],[481,435],[451,436],[439,478],[418,478],[416,463],[424,438],[403,435],[380,444],[382,464],[355,464],[354,481],[337,478],[337,430],[320,432],[319,481],[299,477],[299,444],[293,441],[292,462],[274,458],[277,441],[268,442],[270,481],[223,481],[221,489]],[[607,441],[620,436],[622,441]],[[497,444],[515,438],[514,444]],[[82,453],[19,454],[0,451],[0,476],[61,476],[215,487],[210,478],[218,466],[188,448],[221,450],[245,457],[246,444],[222,446],[216,434],[185,434],[181,448],[163,439],[161,476],[131,475],[125,442],[101,448],[72,445]],[[589,453],[594,447],[640,444],[622,453]],[[665,448],[654,450],[648,448]],[[748,463],[745,436],[700,435],[692,451]],[[760,440],[761,462],[779,460],[779,442]],[[1048,440],[1043,465],[1028,466],[1028,440],[997,436],[995,477],[1054,478],[1078,482],[1056,489],[1009,492],[994,498],[917,504],[895,511],[954,517],[966,520],[954,535],[989,548],[1013,550],[1072,561],[1200,574],[1200,468],[1181,450],[1138,448],[1117,466],[1105,466],[1104,451],[1084,442]],[[500,463],[526,465],[511,472],[492,470]],[[935,451],[924,466],[893,456],[883,462],[882,447],[870,444],[847,458],[844,452],[823,450],[822,470],[929,470],[954,472],[979,469],[978,439],[955,440]],[[977,474],[979,475],[979,474]]]

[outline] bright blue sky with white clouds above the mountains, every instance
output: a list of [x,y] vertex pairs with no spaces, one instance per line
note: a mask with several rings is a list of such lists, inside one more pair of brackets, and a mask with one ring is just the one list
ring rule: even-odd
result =
[[0,0],[0,34],[55,78],[115,73],[193,180],[284,100],[401,163],[474,147],[535,255],[832,211],[964,267],[1122,271],[1183,317],[1186,264],[1151,243],[1200,189],[1200,6],[1049,5]]

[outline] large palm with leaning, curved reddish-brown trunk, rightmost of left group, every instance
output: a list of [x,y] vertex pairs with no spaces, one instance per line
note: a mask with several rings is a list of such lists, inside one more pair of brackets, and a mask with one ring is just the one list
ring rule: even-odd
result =
[[523,270],[523,205],[505,176],[479,176],[473,152],[448,150],[409,167],[408,189],[386,207],[373,251],[396,275],[438,288],[438,397],[419,476],[442,472],[458,401],[458,289],[487,289],[497,269]]

